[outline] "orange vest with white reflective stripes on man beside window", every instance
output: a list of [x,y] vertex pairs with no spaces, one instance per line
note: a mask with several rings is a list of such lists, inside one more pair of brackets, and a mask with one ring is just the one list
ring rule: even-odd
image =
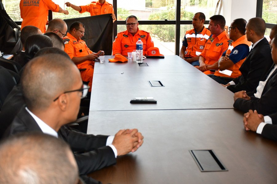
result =
[[209,39],[211,32],[205,27],[200,33],[196,33],[195,29],[186,32],[183,39],[183,46],[187,47],[185,51],[186,58],[199,56],[204,50],[205,44]]

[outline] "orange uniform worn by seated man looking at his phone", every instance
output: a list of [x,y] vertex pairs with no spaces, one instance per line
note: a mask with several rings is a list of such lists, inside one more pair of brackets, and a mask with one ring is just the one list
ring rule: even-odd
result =
[[[77,40],[73,37],[70,33],[67,33],[66,36],[63,38],[64,42],[64,51],[72,57],[83,57],[87,56],[92,53],[92,51],[86,46],[86,42],[83,40]],[[92,86],[92,78],[93,78],[93,71],[94,71],[94,61],[86,60],[82,63],[77,65],[78,69],[86,69],[82,70],[81,77],[82,80],[85,82],[89,82],[88,85],[90,86],[89,91],[91,92]]]

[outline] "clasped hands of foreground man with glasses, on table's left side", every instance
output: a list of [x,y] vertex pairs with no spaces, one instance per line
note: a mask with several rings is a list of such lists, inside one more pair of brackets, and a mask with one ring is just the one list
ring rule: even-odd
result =
[[112,145],[117,150],[117,156],[135,152],[143,144],[143,135],[138,129],[123,129],[118,131]]

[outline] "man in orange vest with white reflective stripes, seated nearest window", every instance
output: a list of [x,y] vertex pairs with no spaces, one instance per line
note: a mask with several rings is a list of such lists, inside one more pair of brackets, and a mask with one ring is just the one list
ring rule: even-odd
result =
[[186,32],[180,50],[180,57],[194,66],[199,66],[199,55],[204,50],[204,46],[211,35],[211,32],[204,26],[205,19],[205,14],[202,12],[193,16],[193,29]]

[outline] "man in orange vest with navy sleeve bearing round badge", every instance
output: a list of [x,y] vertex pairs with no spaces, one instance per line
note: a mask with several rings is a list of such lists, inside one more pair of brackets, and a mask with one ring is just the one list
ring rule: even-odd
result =
[[235,19],[229,27],[229,36],[233,40],[228,49],[219,59],[218,68],[214,75],[208,75],[219,84],[227,84],[234,78],[239,77],[240,66],[249,54],[250,41],[247,41],[245,35],[246,20],[243,18]]

